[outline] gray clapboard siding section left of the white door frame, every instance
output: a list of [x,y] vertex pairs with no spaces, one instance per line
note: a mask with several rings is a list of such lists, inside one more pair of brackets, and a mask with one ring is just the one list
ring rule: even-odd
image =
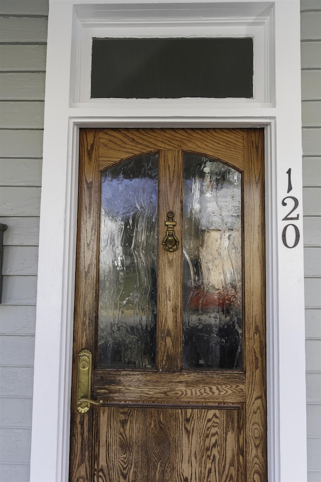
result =
[[0,481],[29,480],[48,0],[0,2]]

